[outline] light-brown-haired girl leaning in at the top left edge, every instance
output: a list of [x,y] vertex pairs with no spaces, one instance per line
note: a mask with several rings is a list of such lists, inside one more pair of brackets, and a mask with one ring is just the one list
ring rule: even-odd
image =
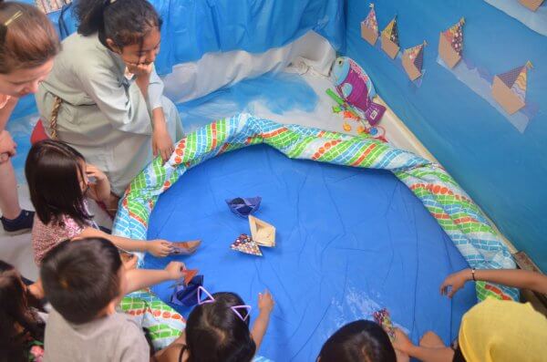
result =
[[55,29],[36,6],[0,0],[0,211],[7,233],[32,227],[34,212],[21,210],[10,158],[16,144],[5,124],[19,98],[36,92],[59,51]]

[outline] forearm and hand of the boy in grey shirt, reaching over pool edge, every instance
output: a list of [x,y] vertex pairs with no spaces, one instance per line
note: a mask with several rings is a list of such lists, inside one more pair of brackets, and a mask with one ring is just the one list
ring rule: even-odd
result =
[[133,269],[127,271],[126,294],[147,288],[151,285],[165,282],[166,280],[178,280],[184,277],[182,273],[186,266],[181,262],[170,262],[164,270]]

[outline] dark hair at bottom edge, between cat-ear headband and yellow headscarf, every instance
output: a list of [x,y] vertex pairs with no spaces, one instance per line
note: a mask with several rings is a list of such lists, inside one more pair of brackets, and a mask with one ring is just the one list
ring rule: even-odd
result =
[[[358,320],[330,336],[319,353],[320,362],[396,362],[389,336],[377,323]],[[319,358],[318,357],[318,358]]]

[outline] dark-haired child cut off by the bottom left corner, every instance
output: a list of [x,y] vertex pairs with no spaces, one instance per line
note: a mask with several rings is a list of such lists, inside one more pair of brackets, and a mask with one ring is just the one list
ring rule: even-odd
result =
[[32,361],[42,356],[42,297],[40,284],[26,285],[13,265],[0,261],[0,362]]

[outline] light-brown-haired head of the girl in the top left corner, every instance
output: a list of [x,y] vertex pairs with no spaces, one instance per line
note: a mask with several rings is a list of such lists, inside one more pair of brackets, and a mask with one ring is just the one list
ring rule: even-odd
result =
[[0,93],[35,93],[59,49],[55,29],[36,6],[0,0]]

